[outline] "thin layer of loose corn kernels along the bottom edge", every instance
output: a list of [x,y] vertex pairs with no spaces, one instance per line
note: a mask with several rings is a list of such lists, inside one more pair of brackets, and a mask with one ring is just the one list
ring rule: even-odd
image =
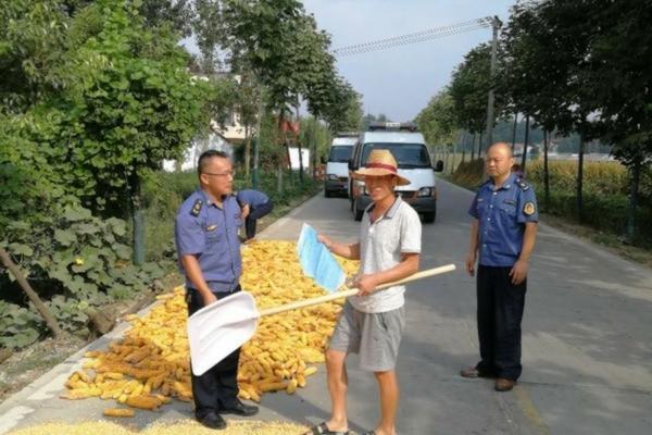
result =
[[[292,435],[301,434],[306,427],[290,423],[229,421],[221,435]],[[84,422],[77,424],[46,423],[11,432],[10,435],[213,435],[216,432],[196,422],[156,423],[142,432],[133,432],[115,423]]]

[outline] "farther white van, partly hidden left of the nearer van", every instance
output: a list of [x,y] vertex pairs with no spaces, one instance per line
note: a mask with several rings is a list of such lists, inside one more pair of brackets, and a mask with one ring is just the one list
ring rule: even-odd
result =
[[348,196],[349,159],[351,159],[356,139],[358,133],[341,133],[333,139],[328,160],[326,161],[326,177],[324,181],[324,196],[326,198],[334,195]]

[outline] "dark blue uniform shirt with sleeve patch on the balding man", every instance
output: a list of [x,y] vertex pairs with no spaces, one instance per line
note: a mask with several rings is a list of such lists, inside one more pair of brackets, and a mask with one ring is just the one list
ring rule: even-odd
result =
[[511,174],[502,187],[493,182],[480,186],[468,214],[478,220],[479,263],[512,266],[523,248],[526,222],[538,222],[539,210],[534,189]]

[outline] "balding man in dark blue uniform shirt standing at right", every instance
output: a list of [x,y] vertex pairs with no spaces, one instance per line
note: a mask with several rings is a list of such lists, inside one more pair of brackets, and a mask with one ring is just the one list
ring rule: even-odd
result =
[[528,262],[537,236],[534,189],[511,172],[512,148],[504,142],[487,150],[490,179],[480,186],[468,213],[474,217],[466,270],[477,276],[480,361],[464,377],[493,377],[497,391],[509,391],[521,376],[521,321]]

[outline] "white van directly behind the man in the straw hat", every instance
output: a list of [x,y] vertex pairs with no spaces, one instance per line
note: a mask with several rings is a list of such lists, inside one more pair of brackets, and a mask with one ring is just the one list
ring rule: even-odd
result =
[[[432,223],[437,216],[437,186],[435,172],[443,170],[443,162],[435,166],[424,135],[416,130],[413,123],[372,123],[367,132],[360,135],[349,170],[364,167],[373,149],[389,150],[399,165],[399,174],[410,181],[408,186],[398,186],[396,191],[414,208],[424,222]],[[356,221],[362,219],[364,210],[372,202],[360,179],[349,179],[349,199]]]

